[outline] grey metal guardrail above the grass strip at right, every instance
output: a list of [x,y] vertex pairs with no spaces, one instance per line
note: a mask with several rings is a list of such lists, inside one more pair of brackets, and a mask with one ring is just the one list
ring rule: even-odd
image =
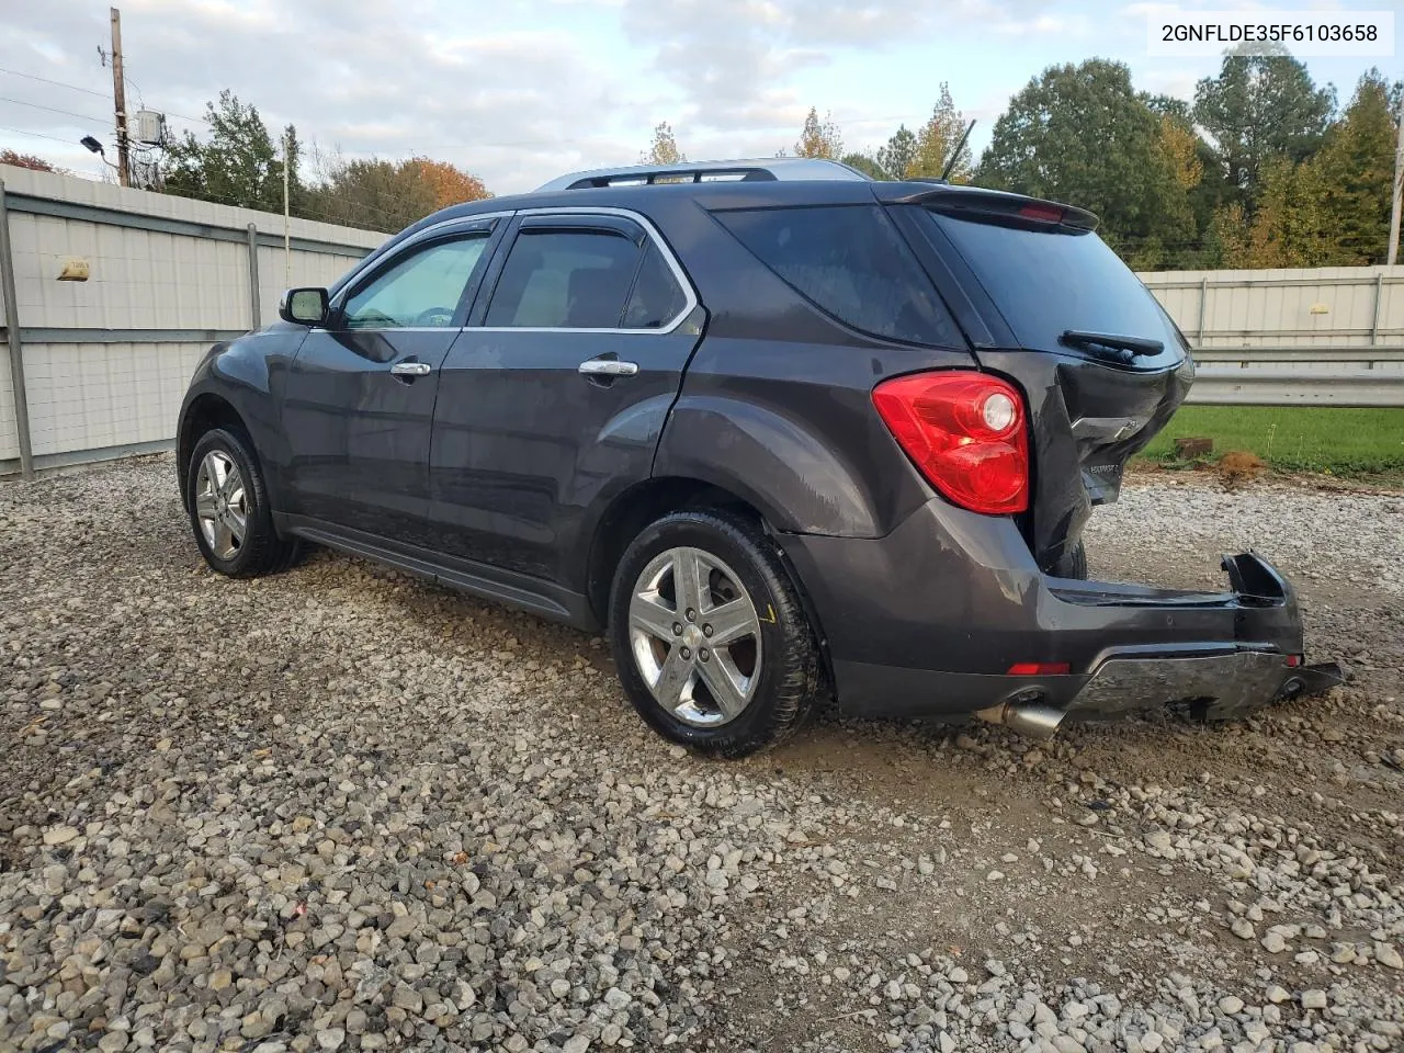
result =
[[1195,350],[1191,403],[1404,407],[1404,347]]

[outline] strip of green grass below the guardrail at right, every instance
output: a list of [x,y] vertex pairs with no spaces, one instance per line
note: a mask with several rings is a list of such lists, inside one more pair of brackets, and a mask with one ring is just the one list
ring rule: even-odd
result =
[[1141,456],[1172,463],[1188,437],[1212,438],[1213,459],[1244,449],[1286,472],[1404,476],[1404,409],[1182,406]]

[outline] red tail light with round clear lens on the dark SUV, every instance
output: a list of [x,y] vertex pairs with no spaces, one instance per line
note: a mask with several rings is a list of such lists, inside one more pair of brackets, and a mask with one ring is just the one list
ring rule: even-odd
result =
[[988,373],[941,371],[883,380],[873,406],[927,480],[962,508],[1009,515],[1029,507],[1024,399]]

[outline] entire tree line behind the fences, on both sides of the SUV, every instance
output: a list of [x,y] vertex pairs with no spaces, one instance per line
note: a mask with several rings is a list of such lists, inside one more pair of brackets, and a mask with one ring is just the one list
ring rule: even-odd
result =
[[[831,157],[879,180],[939,177],[1095,212],[1136,270],[1325,267],[1383,263],[1404,86],[1366,72],[1344,108],[1287,53],[1227,55],[1193,100],[1137,91],[1126,65],[1050,66],[1014,95],[979,160],[946,83],[921,126],[869,150],[845,149],[831,115],[812,108],[779,154]],[[354,159],[278,139],[230,91],[206,107],[201,136],[161,153],[161,188],[281,212],[284,166],[295,216],[395,232],[445,205],[490,197],[469,171],[430,157]],[[41,159],[0,159],[51,167]],[[668,122],[639,159],[687,160]]]

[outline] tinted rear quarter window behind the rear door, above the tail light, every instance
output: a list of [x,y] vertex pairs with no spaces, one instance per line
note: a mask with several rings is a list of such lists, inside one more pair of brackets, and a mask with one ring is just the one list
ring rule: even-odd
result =
[[713,215],[761,263],[840,322],[892,340],[963,345],[931,279],[880,206]]

